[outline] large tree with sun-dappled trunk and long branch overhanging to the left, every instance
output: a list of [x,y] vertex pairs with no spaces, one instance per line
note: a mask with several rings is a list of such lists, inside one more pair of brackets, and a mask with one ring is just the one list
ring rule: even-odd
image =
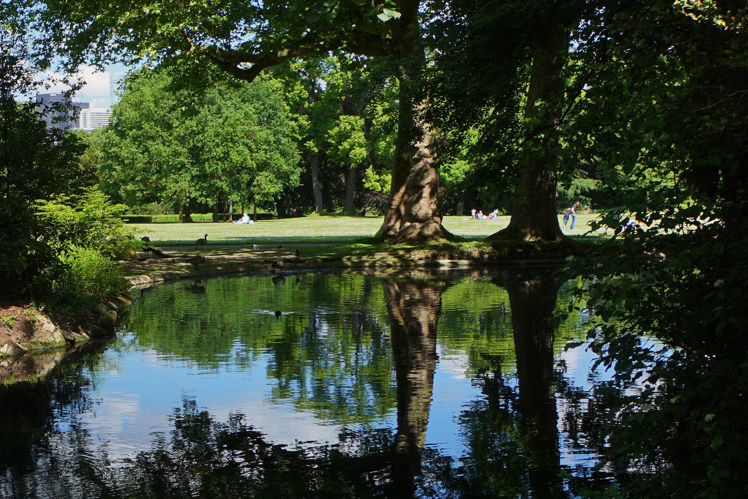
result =
[[[122,55],[129,62],[177,63],[199,74],[215,64],[230,75],[254,80],[263,70],[294,58],[346,52],[392,61],[400,81],[399,126],[390,202],[380,236],[441,239],[434,132],[423,121],[428,38],[426,2],[373,4],[353,0],[220,0],[164,4],[153,0],[47,0],[41,17],[73,63],[101,64]],[[64,43],[63,43],[64,40]],[[188,72],[190,73],[190,72]]]

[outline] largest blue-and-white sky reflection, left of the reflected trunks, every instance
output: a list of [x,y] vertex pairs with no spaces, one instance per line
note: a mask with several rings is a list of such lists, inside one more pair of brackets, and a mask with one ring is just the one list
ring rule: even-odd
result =
[[171,430],[170,416],[185,398],[194,399],[218,421],[245,414],[248,424],[274,443],[337,442],[341,426],[267,400],[273,383],[266,379],[269,354],[241,370],[231,364],[206,370],[143,348],[124,354],[110,350],[104,355],[117,355],[118,369],[96,386],[97,404],[79,416],[79,423],[102,443],[108,442],[110,459],[132,457],[150,448],[153,432]]

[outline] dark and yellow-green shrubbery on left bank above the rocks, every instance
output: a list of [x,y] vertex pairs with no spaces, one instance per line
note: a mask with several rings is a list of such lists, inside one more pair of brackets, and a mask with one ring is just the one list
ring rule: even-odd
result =
[[47,129],[33,102],[25,40],[0,31],[0,296],[82,311],[122,289],[111,257],[137,247],[96,188],[86,138]]

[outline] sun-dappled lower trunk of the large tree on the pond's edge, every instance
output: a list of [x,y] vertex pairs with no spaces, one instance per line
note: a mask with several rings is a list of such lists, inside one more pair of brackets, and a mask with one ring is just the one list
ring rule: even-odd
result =
[[441,224],[434,135],[418,114],[405,82],[400,85],[399,118],[387,211],[378,236],[393,242],[425,242],[453,238]]

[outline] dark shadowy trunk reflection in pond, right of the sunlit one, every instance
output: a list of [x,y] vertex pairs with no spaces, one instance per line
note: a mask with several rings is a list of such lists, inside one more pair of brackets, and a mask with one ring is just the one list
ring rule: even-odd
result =
[[548,275],[522,276],[506,286],[512,308],[521,433],[534,499],[563,496],[554,394],[554,327],[559,285]]

